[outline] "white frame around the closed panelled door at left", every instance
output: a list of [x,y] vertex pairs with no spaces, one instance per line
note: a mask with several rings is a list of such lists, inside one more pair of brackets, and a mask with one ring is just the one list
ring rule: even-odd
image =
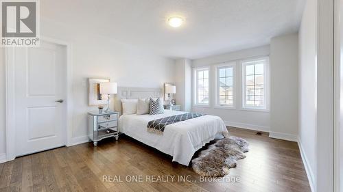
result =
[[[40,37],[40,40],[51,42],[54,44],[60,44],[66,46],[67,48],[67,127],[65,128],[65,138],[64,141],[66,146],[71,145],[71,135],[72,135],[72,63],[71,63],[71,47],[72,44],[69,42],[64,42],[62,40],[57,40],[54,38]],[[6,79],[6,159],[7,161],[12,161],[16,157],[16,106],[15,106],[15,52],[14,47],[5,48],[5,79]]]

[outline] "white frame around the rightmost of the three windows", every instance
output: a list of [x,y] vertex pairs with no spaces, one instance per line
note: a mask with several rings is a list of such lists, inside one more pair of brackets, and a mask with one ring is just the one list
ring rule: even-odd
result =
[[[264,105],[261,107],[258,106],[247,106],[246,105],[246,66],[251,63],[255,63],[257,61],[264,61],[263,65],[263,103]],[[269,57],[257,57],[255,59],[244,59],[241,60],[241,83],[242,83],[242,91],[241,91],[241,107],[243,110],[249,111],[269,111],[269,96],[270,96],[270,79],[269,79]]]

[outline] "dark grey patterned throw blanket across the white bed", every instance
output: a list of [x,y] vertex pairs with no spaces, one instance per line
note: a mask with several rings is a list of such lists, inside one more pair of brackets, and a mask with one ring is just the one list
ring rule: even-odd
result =
[[166,118],[161,118],[158,120],[152,120],[147,123],[147,131],[157,134],[162,134],[165,131],[165,126],[169,124],[174,124],[177,122],[182,122],[185,120],[198,118],[203,116],[201,113],[185,113],[180,115],[173,115]]

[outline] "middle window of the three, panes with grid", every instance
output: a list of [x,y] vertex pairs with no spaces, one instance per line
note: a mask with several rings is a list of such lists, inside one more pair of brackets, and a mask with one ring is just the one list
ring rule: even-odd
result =
[[215,72],[216,102],[219,107],[234,107],[235,64],[217,66]]

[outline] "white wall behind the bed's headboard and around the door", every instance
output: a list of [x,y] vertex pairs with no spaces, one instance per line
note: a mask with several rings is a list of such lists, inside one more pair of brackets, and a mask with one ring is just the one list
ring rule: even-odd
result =
[[[88,78],[104,77],[124,87],[163,87],[174,82],[174,59],[160,57],[135,46],[108,38],[69,31],[51,20],[40,23],[41,36],[56,38],[72,44],[73,131],[72,142],[86,141],[88,106]],[[115,38],[115,37],[113,37]],[[2,56],[2,55],[1,55]],[[0,57],[3,58],[3,57]],[[0,66],[0,154],[5,152],[5,72]]]

